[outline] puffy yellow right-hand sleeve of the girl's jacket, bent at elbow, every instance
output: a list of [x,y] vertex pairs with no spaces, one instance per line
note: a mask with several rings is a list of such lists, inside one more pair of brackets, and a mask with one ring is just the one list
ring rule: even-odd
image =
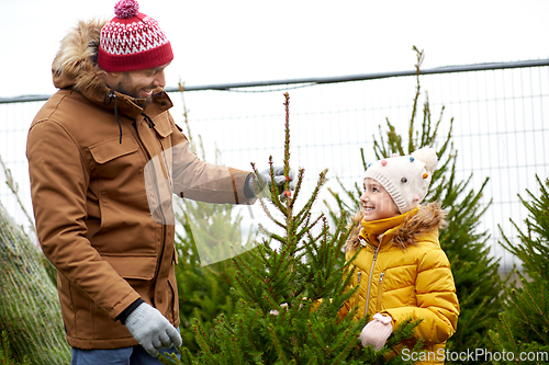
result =
[[459,304],[450,263],[441,249],[426,252],[418,262],[416,277],[417,307],[386,309],[382,315],[393,318],[393,326],[412,318],[422,319],[416,335],[426,345],[442,343],[455,332]]

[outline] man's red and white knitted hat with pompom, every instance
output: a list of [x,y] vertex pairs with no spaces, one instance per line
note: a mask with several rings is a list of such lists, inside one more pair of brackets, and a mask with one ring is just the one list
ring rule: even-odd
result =
[[171,45],[153,18],[139,13],[135,0],[120,0],[101,30],[98,64],[108,72],[156,68],[173,59]]

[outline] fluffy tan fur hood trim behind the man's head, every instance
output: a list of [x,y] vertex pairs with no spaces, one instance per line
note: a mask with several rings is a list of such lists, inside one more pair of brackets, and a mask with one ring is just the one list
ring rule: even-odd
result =
[[61,41],[59,52],[52,65],[54,84],[58,89],[70,88],[89,99],[103,98],[107,85],[97,66],[101,28],[105,20],[79,21]]

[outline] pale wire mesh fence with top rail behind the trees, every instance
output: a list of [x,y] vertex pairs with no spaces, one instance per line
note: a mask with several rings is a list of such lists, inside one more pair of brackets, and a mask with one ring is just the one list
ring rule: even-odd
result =
[[[470,187],[475,191],[489,178],[481,204],[492,203],[479,229],[491,235],[492,253],[502,258],[501,271],[508,272],[518,262],[497,243],[502,239],[498,227],[515,237],[509,218],[520,225],[527,216],[517,194],[526,198],[526,190],[537,194],[536,174],[549,176],[549,60],[422,70],[421,84],[435,121],[444,107],[441,136],[453,118],[459,178],[472,174]],[[406,71],[187,87],[182,94],[178,89],[167,90],[175,103],[171,113],[183,128],[187,107],[191,135],[199,144],[201,137],[206,160],[244,170],[250,170],[250,162],[267,168],[269,156],[282,162],[282,103],[288,91],[292,166],[305,168],[303,195],[307,196],[326,168],[327,187],[338,190],[336,178],[348,189],[361,181],[360,148],[367,161],[374,159],[373,139],[379,138],[380,126],[386,130],[386,121],[407,136],[415,87],[415,71]],[[0,100],[0,156],[29,213],[26,132],[43,99]],[[417,123],[421,117],[419,112]],[[3,172],[0,178],[5,180]],[[326,189],[320,199],[330,201]],[[29,225],[5,184],[0,186],[0,202],[18,223]],[[318,204],[317,209],[326,207]]]

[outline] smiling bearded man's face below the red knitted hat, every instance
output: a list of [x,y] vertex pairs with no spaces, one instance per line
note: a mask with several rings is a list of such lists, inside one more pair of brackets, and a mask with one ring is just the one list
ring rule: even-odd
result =
[[104,80],[115,91],[136,99],[145,99],[145,104],[148,104],[153,101],[153,90],[166,87],[164,70],[168,65],[131,72],[107,72]]

